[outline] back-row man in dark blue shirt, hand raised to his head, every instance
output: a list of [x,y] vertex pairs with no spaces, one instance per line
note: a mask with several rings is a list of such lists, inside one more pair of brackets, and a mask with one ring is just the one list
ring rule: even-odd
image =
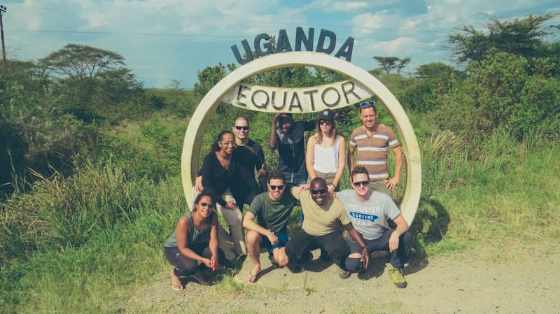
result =
[[273,150],[278,148],[278,168],[283,171],[286,182],[294,186],[307,183],[304,133],[313,129],[315,121],[293,122],[291,113],[276,113],[272,120],[268,145]]

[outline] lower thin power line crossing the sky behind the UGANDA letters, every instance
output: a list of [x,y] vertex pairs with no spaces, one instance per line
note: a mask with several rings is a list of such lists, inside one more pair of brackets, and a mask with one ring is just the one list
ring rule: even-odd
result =
[[[240,36],[240,35],[207,35],[207,34],[180,34],[180,33],[141,33],[132,31],[69,31],[60,29],[10,29],[13,32],[29,32],[29,33],[61,33],[61,34],[102,34],[102,35],[131,35],[131,36],[174,36],[174,37],[208,37],[208,38],[253,38],[252,36]],[[295,40],[294,37],[291,39]],[[397,38],[398,39],[398,38]],[[360,39],[354,38],[354,41],[360,42],[390,42],[397,39]],[[337,39],[337,41],[345,41],[346,39]],[[402,40],[406,43],[433,43],[435,41],[440,41],[436,39],[433,41],[419,41],[419,40]]]

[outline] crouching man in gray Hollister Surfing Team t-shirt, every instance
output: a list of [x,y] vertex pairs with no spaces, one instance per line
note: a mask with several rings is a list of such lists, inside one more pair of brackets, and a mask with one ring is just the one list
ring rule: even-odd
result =
[[[412,248],[412,235],[408,231],[408,223],[402,217],[400,210],[391,197],[380,192],[370,190],[369,173],[363,166],[356,166],[352,173],[353,190],[337,193],[337,197],[344,204],[344,209],[353,227],[362,234],[371,251],[388,250],[391,252],[391,266],[388,267],[389,276],[399,288],[407,286],[402,276]],[[388,227],[387,220],[391,219],[397,227]],[[350,255],[346,259],[346,269],[351,272],[360,271],[360,259],[363,248],[350,240]]]

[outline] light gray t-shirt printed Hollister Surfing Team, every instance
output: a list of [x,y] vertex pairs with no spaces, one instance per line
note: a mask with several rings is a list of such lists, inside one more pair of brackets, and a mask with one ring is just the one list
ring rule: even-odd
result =
[[394,220],[400,215],[393,199],[383,193],[372,191],[367,201],[358,200],[354,190],[337,192],[337,197],[344,204],[353,227],[366,240],[379,238],[388,229],[387,218]]

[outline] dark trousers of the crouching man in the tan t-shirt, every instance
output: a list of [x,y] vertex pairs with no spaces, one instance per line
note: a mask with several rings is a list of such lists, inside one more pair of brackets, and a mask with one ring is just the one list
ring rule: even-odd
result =
[[303,230],[297,231],[286,244],[286,255],[290,262],[302,263],[306,261],[311,250],[321,248],[339,267],[344,268],[344,260],[348,256],[348,246],[339,230],[324,236],[311,236]]

